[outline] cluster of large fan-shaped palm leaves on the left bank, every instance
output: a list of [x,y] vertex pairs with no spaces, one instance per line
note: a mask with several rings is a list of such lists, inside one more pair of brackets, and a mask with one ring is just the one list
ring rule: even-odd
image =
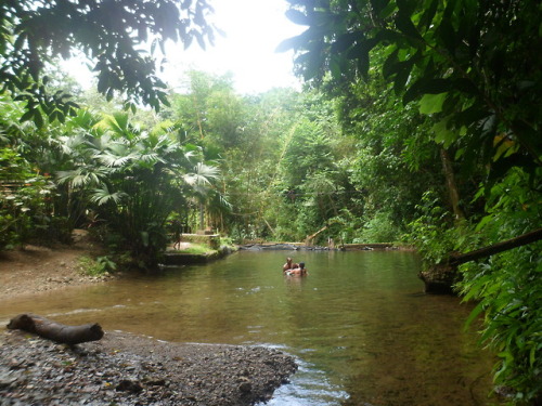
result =
[[178,125],[145,130],[127,113],[96,117],[80,109],[48,133],[34,128],[33,136],[25,131],[20,137],[16,117],[13,126],[8,121],[5,144],[22,156],[33,150],[37,170],[56,184],[50,215],[96,230],[138,266],[156,265],[168,243],[169,217],[186,217],[216,193],[218,169],[204,162],[199,147],[178,141]]

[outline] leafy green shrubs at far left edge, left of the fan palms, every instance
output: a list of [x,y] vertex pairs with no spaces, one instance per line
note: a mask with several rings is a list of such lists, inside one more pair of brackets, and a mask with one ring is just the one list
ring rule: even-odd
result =
[[21,122],[23,114],[22,103],[0,96],[1,248],[70,237],[65,219],[54,215],[54,184],[36,163],[39,152],[34,147],[43,146],[46,136],[34,123]]

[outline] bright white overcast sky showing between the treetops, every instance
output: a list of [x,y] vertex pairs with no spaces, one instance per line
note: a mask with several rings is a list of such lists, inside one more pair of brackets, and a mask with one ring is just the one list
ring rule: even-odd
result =
[[[182,43],[166,49],[169,61],[162,78],[180,87],[183,71],[191,68],[216,75],[233,73],[237,92],[260,93],[275,87],[299,88],[293,74],[293,53],[276,53],[286,38],[302,32],[306,27],[292,23],[284,15],[285,0],[209,0],[215,8],[214,23],[227,37],[217,34],[215,47],[202,50],[196,41],[184,51]],[[81,83],[89,83],[89,74],[76,62],[67,69]]]

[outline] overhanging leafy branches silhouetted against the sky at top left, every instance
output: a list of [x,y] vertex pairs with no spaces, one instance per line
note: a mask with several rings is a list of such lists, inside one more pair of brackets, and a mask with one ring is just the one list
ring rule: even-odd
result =
[[[76,104],[59,91],[48,94],[43,69],[54,58],[82,52],[93,64],[98,90],[126,106],[167,103],[166,84],[153,56],[165,42],[212,43],[207,0],[5,0],[0,3],[0,83],[26,101],[23,119],[64,120]],[[150,51],[145,51],[150,47]]]

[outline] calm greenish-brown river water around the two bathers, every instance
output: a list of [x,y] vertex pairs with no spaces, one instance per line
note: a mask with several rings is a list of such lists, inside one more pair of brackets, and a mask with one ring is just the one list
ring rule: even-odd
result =
[[[286,256],[309,275],[282,274]],[[423,293],[411,252],[241,251],[223,260],[2,301],[178,342],[259,344],[300,365],[273,406],[478,406],[496,402],[492,356],[464,330],[472,307]]]

